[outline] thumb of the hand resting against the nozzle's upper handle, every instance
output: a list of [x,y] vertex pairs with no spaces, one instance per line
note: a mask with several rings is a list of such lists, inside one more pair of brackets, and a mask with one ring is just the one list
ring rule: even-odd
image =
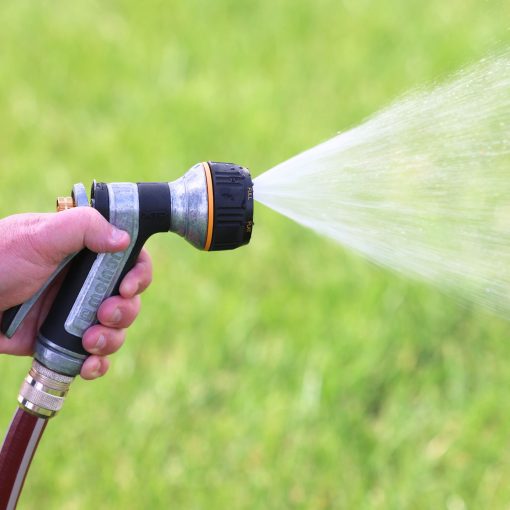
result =
[[31,244],[49,261],[59,261],[88,248],[96,253],[116,252],[129,245],[129,234],[111,225],[92,207],[76,207],[45,215],[32,232]]

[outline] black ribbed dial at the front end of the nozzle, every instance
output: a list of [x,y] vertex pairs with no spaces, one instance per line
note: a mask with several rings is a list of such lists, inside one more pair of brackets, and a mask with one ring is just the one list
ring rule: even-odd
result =
[[253,230],[253,182],[234,163],[209,161],[214,195],[210,251],[233,250],[250,242]]

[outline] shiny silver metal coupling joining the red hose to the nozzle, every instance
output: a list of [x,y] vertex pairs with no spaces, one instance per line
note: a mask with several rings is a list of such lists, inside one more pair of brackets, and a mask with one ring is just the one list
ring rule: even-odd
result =
[[18,395],[20,407],[39,418],[55,416],[66,398],[74,377],[59,374],[34,359]]

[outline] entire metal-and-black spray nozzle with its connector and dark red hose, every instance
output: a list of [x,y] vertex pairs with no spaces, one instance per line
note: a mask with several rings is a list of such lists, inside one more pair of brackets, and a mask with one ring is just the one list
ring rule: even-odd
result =
[[69,266],[37,335],[32,367],[18,396],[19,409],[0,451],[0,510],[16,507],[47,420],[61,410],[88,356],[83,334],[97,322],[101,303],[118,294],[120,282],[147,239],[158,232],[175,232],[205,251],[248,244],[253,229],[253,183],[242,166],[207,162],[170,183],[94,182],[90,202],[85,187],[76,184],[72,196],[59,198],[57,207],[94,207],[127,231],[131,243],[120,253],[85,249],[68,257],[30,300],[3,314],[1,330],[12,337],[46,288]]

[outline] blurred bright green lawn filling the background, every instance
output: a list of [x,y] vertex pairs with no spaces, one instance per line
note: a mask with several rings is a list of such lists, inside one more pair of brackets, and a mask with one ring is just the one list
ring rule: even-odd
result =
[[[254,175],[510,41],[507,1],[0,6],[2,216],[72,184]],[[370,183],[367,183],[369,186]],[[103,380],[20,508],[510,508],[509,324],[256,207],[252,244],[150,241]],[[0,357],[0,430],[28,359]]]

